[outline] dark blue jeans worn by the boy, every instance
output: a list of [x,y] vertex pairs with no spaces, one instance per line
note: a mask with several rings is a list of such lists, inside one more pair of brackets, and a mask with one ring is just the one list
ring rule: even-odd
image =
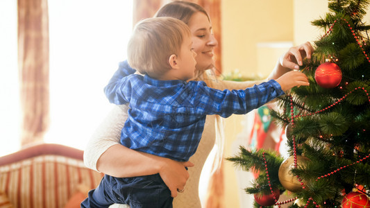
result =
[[104,175],[99,186],[89,191],[81,207],[100,208],[117,203],[131,208],[171,208],[173,200],[171,191],[158,173],[139,177]]

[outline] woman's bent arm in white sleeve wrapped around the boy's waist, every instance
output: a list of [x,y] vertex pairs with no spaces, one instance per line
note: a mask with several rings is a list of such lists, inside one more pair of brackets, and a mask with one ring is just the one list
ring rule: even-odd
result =
[[133,177],[159,173],[177,196],[177,189],[185,187],[189,173],[184,166],[194,166],[191,162],[176,162],[164,157],[140,153],[119,144],[121,129],[127,119],[127,105],[115,106],[88,141],[84,152],[84,162],[89,168],[115,177]]

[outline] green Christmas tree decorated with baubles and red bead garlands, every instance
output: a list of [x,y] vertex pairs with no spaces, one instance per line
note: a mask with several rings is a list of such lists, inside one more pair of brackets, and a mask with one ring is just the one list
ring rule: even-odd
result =
[[[310,60],[310,86],[278,98],[274,120],[285,129],[289,157],[240,147],[228,160],[258,177],[245,191],[255,207],[370,207],[370,48],[362,21],[367,0],[331,0]],[[292,198],[279,201],[283,192]]]

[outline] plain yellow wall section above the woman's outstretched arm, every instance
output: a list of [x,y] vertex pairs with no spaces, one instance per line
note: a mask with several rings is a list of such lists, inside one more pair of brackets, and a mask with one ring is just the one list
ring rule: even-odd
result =
[[293,0],[221,2],[222,69],[257,73],[258,42],[293,40]]

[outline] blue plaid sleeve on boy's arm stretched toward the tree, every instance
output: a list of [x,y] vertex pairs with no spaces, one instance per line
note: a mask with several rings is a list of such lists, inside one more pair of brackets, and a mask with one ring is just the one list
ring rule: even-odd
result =
[[199,102],[195,113],[219,114],[225,118],[231,114],[246,114],[284,94],[275,80],[232,91],[228,89],[221,91],[205,85],[197,85],[197,90],[199,93],[194,99],[198,99]]

